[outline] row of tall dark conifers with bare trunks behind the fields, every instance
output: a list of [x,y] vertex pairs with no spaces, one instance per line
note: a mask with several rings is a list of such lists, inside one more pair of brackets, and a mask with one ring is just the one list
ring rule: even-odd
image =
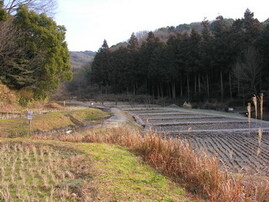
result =
[[102,93],[207,100],[245,98],[269,90],[269,24],[250,10],[232,23],[203,21],[201,32],[149,32],[139,45],[132,34],[116,50],[104,41],[87,75]]

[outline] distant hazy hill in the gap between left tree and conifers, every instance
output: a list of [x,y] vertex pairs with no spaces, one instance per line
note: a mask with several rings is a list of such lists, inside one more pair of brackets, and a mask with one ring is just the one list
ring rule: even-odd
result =
[[74,69],[83,67],[93,61],[96,52],[93,51],[70,51],[71,65]]

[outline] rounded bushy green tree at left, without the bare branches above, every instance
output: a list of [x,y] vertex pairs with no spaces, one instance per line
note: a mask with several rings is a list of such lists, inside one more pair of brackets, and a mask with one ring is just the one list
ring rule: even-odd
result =
[[10,50],[1,54],[0,78],[13,89],[32,89],[36,99],[43,99],[72,77],[66,30],[45,14],[22,6],[10,18],[16,33]]

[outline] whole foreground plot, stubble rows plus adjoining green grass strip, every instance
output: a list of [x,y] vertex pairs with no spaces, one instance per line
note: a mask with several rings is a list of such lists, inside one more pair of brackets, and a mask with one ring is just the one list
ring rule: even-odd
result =
[[0,153],[1,200],[190,201],[119,146],[3,139]]

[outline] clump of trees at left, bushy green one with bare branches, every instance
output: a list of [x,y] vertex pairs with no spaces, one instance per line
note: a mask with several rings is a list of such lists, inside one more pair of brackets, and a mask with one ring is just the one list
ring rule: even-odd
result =
[[44,99],[70,80],[64,26],[48,17],[52,0],[0,1],[0,82]]

